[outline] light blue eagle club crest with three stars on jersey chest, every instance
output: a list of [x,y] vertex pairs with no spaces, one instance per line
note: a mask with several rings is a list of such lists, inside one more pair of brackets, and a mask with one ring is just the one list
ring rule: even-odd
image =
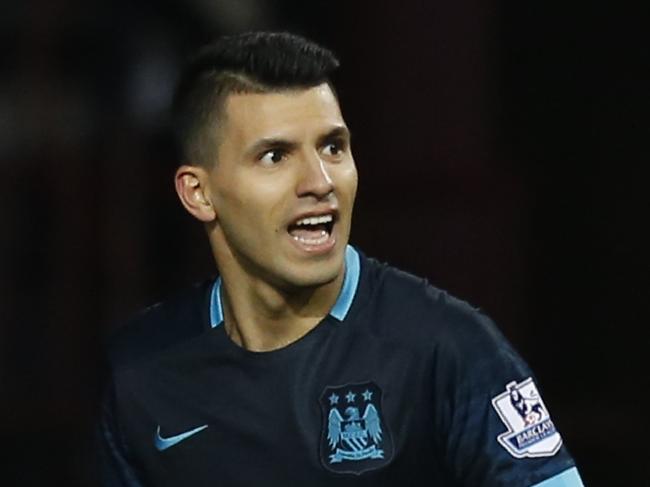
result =
[[325,468],[361,474],[390,462],[393,442],[381,404],[381,389],[373,382],[325,388],[320,398],[320,457]]

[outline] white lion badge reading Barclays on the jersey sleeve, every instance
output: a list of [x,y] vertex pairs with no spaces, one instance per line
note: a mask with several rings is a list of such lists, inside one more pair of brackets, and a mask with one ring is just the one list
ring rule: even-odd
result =
[[532,378],[507,384],[505,392],[492,399],[492,405],[508,428],[497,440],[512,456],[550,457],[562,446],[562,437]]

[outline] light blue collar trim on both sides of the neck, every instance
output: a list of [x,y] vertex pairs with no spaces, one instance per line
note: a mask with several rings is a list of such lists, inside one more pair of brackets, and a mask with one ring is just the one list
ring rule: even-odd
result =
[[[352,301],[359,286],[361,264],[359,253],[354,247],[348,245],[345,249],[345,277],[343,287],[336,299],[336,303],[330,310],[330,315],[339,321],[343,321],[350,311]],[[218,277],[212,285],[210,294],[210,326],[216,328],[223,323],[223,306],[221,305],[221,277]]]

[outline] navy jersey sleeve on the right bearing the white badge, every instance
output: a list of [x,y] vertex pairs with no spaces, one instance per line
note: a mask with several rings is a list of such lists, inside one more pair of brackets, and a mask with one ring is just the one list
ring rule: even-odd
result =
[[433,377],[449,476],[468,487],[546,487],[564,474],[577,481],[558,486],[582,486],[532,371],[489,318],[464,306],[446,313]]

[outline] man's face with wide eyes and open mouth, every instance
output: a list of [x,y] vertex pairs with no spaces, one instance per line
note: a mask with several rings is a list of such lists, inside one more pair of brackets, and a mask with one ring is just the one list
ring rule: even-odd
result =
[[343,270],[357,171],[330,87],[231,94],[209,173],[217,256],[281,289]]

